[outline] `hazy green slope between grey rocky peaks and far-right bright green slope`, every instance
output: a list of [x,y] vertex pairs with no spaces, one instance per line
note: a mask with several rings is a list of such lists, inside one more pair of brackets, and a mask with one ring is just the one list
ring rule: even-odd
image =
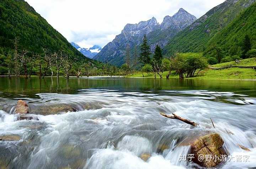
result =
[[175,52],[201,52],[208,41],[227,26],[241,11],[255,0],[226,0],[177,33],[164,48],[167,56]]

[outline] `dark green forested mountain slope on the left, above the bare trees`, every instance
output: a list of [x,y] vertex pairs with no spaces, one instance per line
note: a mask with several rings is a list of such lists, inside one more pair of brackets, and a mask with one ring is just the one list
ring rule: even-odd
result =
[[[24,0],[0,1],[0,50],[7,55],[14,50],[13,41],[19,39],[19,48],[42,53],[42,47],[52,52],[63,50],[78,60],[89,60],[77,51],[57,30],[50,26]],[[96,61],[92,61],[95,64]]]

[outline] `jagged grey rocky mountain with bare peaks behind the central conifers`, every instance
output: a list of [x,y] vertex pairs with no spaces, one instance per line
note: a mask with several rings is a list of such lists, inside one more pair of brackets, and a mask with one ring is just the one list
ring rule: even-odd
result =
[[129,44],[131,52],[134,51],[135,45],[138,49],[144,34],[146,34],[151,51],[153,52],[156,45],[165,46],[169,38],[185,29],[195,20],[195,16],[184,9],[180,9],[174,16],[166,16],[161,24],[154,17],[148,21],[141,21],[138,24],[127,24],[121,34],[117,35],[112,42],[103,47],[94,59],[120,66],[124,63],[126,46]]

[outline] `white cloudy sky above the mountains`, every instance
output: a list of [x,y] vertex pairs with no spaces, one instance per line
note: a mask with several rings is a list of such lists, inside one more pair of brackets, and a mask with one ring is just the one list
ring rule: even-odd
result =
[[224,0],[26,0],[70,42],[105,46],[127,23],[159,23],[181,7],[197,18]]

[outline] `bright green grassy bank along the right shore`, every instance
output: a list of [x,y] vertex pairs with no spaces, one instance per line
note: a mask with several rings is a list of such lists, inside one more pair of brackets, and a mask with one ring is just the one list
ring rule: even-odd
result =
[[[212,65],[211,67],[224,67],[224,66],[256,66],[256,59],[249,58],[241,60],[240,63],[226,62]],[[166,77],[168,72],[164,72],[163,78]],[[143,73],[144,78],[154,78],[154,74]],[[137,72],[133,75],[128,75],[129,78],[143,78],[141,72]],[[157,75],[157,78],[159,76]],[[173,71],[169,78],[179,78],[177,74]],[[228,68],[222,70],[205,69],[201,71],[197,77],[192,77],[190,79],[218,79],[218,80],[256,80],[256,71],[254,69],[245,68]]]

